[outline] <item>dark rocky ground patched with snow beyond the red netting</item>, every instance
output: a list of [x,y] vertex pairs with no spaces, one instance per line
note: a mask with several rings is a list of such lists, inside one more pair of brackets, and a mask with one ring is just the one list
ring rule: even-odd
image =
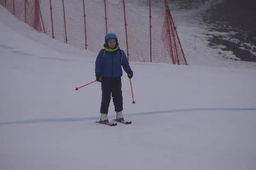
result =
[[[168,1],[177,4],[178,10],[191,10],[210,2],[210,8],[201,12],[209,35],[212,35],[209,46],[221,45],[222,50],[232,51],[242,61],[256,62],[256,0]],[[211,34],[216,31],[233,34]]]

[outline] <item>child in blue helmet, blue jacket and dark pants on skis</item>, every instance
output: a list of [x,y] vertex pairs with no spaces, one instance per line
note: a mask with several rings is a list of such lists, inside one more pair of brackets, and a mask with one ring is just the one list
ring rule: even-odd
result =
[[100,107],[100,121],[108,123],[108,108],[111,101],[116,112],[116,119],[123,121],[123,97],[122,97],[122,68],[128,74],[128,78],[133,77],[133,71],[129,65],[125,52],[119,48],[115,34],[109,33],[105,36],[104,49],[99,51],[95,62],[96,81],[101,82],[102,101]]

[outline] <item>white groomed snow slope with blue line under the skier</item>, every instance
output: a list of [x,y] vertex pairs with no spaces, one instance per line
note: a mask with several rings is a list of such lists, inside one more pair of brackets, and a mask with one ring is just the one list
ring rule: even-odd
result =
[[[178,27],[182,42],[200,36]],[[122,90],[133,124],[108,127],[95,123],[100,83],[75,91],[95,79],[96,53],[52,40],[2,6],[0,30],[0,170],[256,169],[255,63],[210,57],[203,36],[188,66],[131,62],[134,105],[126,76]]]

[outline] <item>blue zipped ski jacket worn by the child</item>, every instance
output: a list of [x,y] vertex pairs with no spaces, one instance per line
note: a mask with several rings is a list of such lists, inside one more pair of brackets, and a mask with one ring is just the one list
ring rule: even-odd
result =
[[98,73],[101,77],[122,77],[122,68],[126,74],[131,73],[124,51],[108,51],[106,48],[99,51],[95,62],[95,74]]

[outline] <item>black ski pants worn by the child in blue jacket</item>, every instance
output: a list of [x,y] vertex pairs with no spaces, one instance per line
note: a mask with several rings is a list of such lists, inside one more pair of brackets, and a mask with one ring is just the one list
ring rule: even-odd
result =
[[108,108],[111,101],[111,94],[115,111],[123,110],[122,82],[121,77],[102,77],[102,102],[100,113],[108,114]]

